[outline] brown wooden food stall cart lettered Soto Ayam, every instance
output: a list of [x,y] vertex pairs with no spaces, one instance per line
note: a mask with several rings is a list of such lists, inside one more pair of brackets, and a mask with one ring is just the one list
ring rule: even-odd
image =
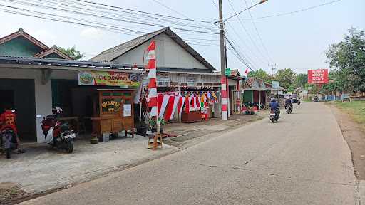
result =
[[103,133],[114,133],[125,130],[132,132],[133,122],[133,94],[135,90],[98,89],[93,102],[93,132],[101,137]]

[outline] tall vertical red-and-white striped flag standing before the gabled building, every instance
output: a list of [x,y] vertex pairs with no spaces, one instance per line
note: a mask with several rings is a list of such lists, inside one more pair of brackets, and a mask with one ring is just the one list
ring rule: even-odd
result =
[[147,79],[149,79],[148,83],[148,98],[150,101],[148,102],[148,107],[151,108],[150,117],[158,116],[158,103],[157,103],[157,83],[156,83],[156,58],[155,58],[155,41],[150,43],[150,46],[147,48],[147,69],[149,70]]

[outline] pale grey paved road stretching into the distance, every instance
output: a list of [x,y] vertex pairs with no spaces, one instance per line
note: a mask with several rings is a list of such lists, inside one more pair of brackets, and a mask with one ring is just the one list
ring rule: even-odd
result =
[[349,147],[316,102],[24,204],[358,204]]

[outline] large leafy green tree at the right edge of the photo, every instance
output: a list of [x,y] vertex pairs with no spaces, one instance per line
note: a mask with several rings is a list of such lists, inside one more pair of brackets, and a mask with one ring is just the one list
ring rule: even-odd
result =
[[343,41],[329,46],[326,56],[334,71],[329,87],[355,92],[365,88],[365,31],[349,29]]

